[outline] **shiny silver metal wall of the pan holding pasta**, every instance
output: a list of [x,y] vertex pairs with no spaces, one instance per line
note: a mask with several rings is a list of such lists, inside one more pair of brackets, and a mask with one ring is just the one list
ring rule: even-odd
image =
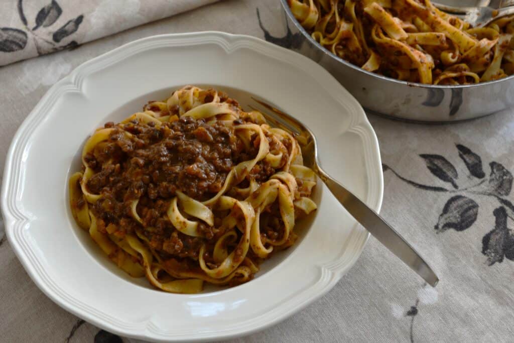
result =
[[295,19],[287,1],[280,1],[288,39],[277,43],[318,62],[369,111],[411,121],[449,122],[478,118],[514,105],[514,76],[473,85],[438,86],[365,71],[318,44]]

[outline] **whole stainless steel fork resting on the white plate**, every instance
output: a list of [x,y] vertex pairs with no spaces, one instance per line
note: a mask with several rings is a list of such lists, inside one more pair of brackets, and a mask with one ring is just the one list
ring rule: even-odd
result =
[[299,120],[290,115],[274,108],[273,106],[255,98],[258,102],[269,110],[272,114],[258,110],[253,106],[252,109],[261,112],[264,117],[274,126],[292,132],[305,139],[302,146],[303,163],[306,167],[311,168],[334,194],[337,200],[350,214],[359,222],[366,230],[368,230],[378,241],[386,246],[394,255],[396,255],[403,263],[407,264],[428,284],[435,287],[439,279],[433,272],[432,268],[419,256],[414,248],[396,232],[391,225],[381,218],[374,210],[364,204],[359,197],[348,191],[337,182],[333,177],[328,175],[320,166],[318,160],[318,149],[316,144],[316,136]]

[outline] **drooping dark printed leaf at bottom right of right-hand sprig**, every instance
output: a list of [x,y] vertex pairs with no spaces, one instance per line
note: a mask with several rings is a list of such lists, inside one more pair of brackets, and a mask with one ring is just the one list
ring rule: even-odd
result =
[[487,264],[503,262],[504,257],[514,261],[514,231],[507,228],[507,212],[504,207],[493,211],[494,229],[482,239],[482,254],[487,256]]

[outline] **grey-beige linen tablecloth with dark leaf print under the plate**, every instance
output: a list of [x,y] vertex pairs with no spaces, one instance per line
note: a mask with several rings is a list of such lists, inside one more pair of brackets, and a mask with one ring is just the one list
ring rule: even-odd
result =
[[[222,1],[2,67],[0,166],[23,119],[73,68],[135,39],[200,30],[271,41],[286,33],[277,0]],[[369,115],[384,169],[381,213],[427,258],[439,285],[427,286],[371,238],[331,292],[277,326],[234,341],[513,341],[513,114],[449,125]],[[0,341],[135,341],[50,301],[25,273],[3,229],[0,237]]]

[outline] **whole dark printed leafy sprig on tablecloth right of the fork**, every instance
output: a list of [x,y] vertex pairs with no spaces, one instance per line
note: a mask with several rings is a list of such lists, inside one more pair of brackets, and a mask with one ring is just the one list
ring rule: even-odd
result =
[[[514,261],[514,230],[507,227],[508,218],[514,221],[514,204],[506,198],[512,191],[512,173],[502,164],[492,161],[489,163],[491,172],[489,176],[486,177],[483,170],[482,158],[468,147],[461,144],[457,144],[456,147],[458,156],[466,165],[470,175],[474,177],[474,179],[470,178],[470,180],[475,181],[472,185],[462,185],[461,188],[458,188],[455,183],[455,179],[458,177],[455,167],[446,158],[440,155],[421,154],[419,156],[425,160],[427,168],[434,176],[444,182],[450,183],[454,189],[419,184],[401,176],[388,165],[382,165],[382,170],[383,172],[391,171],[400,180],[417,189],[454,194],[446,202],[442,213],[439,215],[437,224],[434,226],[437,233],[444,232],[448,229],[464,231],[476,222],[479,214],[479,204],[466,195],[478,195],[480,198],[489,197],[489,199],[492,198],[493,201],[498,201],[500,207],[493,211],[495,218],[494,229],[486,233],[482,238],[482,254],[487,256],[487,264],[489,266],[497,262],[501,263],[504,259]],[[416,315],[414,306],[407,315],[414,318]]]

